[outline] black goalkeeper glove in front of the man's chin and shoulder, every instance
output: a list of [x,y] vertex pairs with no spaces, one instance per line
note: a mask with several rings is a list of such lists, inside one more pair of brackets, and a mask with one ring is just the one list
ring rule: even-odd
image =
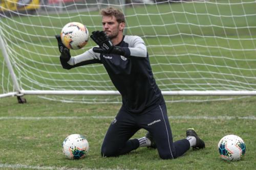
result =
[[125,56],[123,48],[113,45],[104,31],[94,31],[90,37],[97,45],[99,45],[99,47],[93,47],[93,52]]

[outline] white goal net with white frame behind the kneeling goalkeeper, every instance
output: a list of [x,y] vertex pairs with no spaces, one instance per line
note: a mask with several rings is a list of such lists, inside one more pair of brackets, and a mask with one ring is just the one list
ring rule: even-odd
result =
[[[254,0],[3,0],[0,97],[20,93],[66,102],[121,102],[102,65],[62,69],[54,37],[71,21],[89,32],[101,30],[99,10],[110,5],[125,14],[125,34],[145,41],[163,94],[256,94]],[[89,40],[71,55],[94,45]]]

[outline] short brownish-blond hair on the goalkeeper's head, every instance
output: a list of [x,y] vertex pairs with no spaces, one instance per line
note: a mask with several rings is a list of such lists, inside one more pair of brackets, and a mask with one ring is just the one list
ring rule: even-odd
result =
[[108,7],[100,10],[102,16],[115,16],[118,23],[125,22],[124,14],[116,8]]

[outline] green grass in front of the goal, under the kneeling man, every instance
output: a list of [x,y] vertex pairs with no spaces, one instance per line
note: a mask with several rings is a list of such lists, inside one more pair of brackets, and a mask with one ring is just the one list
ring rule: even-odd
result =
[[[76,104],[51,102],[25,96],[27,104],[17,104],[16,98],[0,99],[0,163],[42,167],[102,168],[102,169],[253,169],[256,164],[255,119],[256,98],[242,100],[169,103],[169,116],[234,116],[233,119],[170,118],[174,140],[185,137],[186,128],[194,127],[206,143],[201,151],[189,150],[175,160],[161,160],[156,150],[139,148],[116,158],[102,158],[100,147],[106,130],[119,110],[119,104]],[[166,100],[167,97],[166,97]],[[15,119],[13,117],[77,116],[74,119]],[[96,119],[92,116],[110,116]],[[3,119],[3,117],[9,119]],[[80,117],[80,118],[79,118]],[[69,134],[80,133],[90,143],[88,156],[68,160],[61,143]],[[145,135],[140,130],[134,137]],[[241,161],[226,162],[219,157],[217,144],[227,134],[236,134],[246,143],[246,155]],[[2,168],[12,169],[12,168]],[[14,168],[15,169],[15,168]],[[24,168],[26,169],[26,168]]]

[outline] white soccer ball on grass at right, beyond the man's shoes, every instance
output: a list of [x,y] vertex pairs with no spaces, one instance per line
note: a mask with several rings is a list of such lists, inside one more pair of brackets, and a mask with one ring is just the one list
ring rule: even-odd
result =
[[245,143],[237,135],[226,135],[219,141],[218,149],[222,159],[236,161],[245,154]]

